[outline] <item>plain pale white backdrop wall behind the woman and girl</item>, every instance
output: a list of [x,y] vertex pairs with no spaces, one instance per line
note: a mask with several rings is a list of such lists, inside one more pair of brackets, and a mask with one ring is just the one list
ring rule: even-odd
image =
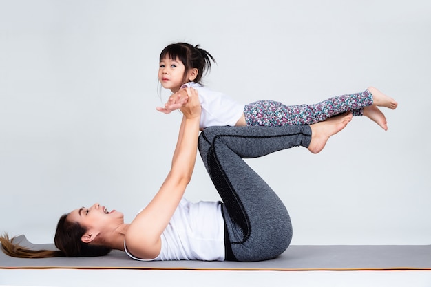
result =
[[[169,170],[180,114],[160,114],[158,56],[218,62],[242,103],[315,103],[378,87],[389,130],[354,118],[322,153],[249,160],[285,202],[293,244],[430,244],[430,1],[0,0],[0,231],[52,242],[99,202],[131,221]],[[164,93],[163,96],[167,96]],[[198,159],[186,193],[218,200]]]

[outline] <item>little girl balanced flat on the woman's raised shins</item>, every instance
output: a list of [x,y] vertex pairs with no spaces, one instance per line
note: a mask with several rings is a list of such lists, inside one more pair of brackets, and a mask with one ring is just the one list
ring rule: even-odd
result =
[[378,107],[395,109],[397,102],[379,92],[375,87],[366,91],[328,98],[315,105],[287,106],[273,100],[260,100],[248,105],[220,92],[214,92],[202,86],[204,73],[209,72],[211,61],[215,59],[209,52],[198,45],[188,43],[168,45],[160,53],[158,79],[165,89],[174,94],[169,97],[164,107],[158,111],[169,114],[187,102],[187,95],[182,89],[193,87],[198,90],[202,115],[200,129],[211,126],[280,126],[312,125],[346,111],[354,116],[367,116],[384,130],[388,129],[386,118]]

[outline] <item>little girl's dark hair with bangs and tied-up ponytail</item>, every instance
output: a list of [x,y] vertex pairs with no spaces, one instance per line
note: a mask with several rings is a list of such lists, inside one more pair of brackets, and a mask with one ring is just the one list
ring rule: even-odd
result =
[[[199,45],[193,46],[189,43],[174,43],[165,47],[160,53],[160,61],[168,57],[169,59],[180,59],[183,65],[185,65],[185,77],[186,73],[190,69],[198,69],[198,75],[193,80],[195,83],[202,84],[200,80],[204,74],[207,74],[211,69],[211,61],[215,63],[215,59],[209,52],[201,49]],[[183,79],[183,82],[187,82],[187,78]]]

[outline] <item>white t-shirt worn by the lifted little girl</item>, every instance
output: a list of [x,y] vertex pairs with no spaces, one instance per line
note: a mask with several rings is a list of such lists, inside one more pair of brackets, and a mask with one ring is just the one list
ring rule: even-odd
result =
[[183,87],[193,87],[198,91],[202,107],[200,129],[225,125],[233,127],[244,113],[245,105],[237,103],[227,94],[214,92],[194,82],[185,83]]

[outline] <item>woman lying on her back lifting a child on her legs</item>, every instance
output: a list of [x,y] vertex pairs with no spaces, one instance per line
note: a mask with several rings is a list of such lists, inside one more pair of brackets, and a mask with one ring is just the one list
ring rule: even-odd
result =
[[[123,213],[94,204],[59,220],[54,242],[59,251],[29,251],[5,235],[3,251],[15,257],[97,256],[112,249],[140,260],[271,259],[291,242],[288,212],[280,198],[242,158],[255,158],[295,146],[312,153],[352,119],[343,114],[322,123],[283,127],[209,127],[199,135],[198,93],[187,88],[171,170],[153,200],[126,224]],[[223,202],[187,202],[197,147]],[[13,241],[13,240],[12,240]]]

